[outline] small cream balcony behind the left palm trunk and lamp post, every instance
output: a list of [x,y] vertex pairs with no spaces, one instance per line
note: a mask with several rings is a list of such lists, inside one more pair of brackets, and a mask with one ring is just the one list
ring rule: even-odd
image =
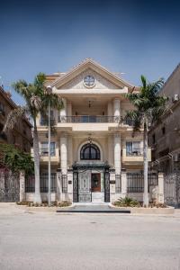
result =
[[[31,156],[33,155],[33,148],[31,148]],[[40,162],[48,162],[49,161],[49,151],[48,148],[40,148]],[[58,164],[59,163],[59,151],[58,148],[50,149],[50,163]]]

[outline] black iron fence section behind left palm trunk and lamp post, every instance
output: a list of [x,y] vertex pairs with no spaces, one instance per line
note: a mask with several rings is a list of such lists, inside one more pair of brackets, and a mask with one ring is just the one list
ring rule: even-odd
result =
[[[47,173],[40,174],[40,193],[48,193],[49,191],[49,177]],[[50,177],[50,191],[51,193],[56,193],[57,191],[57,181],[56,173],[51,173]],[[28,175],[25,178],[25,192],[34,193],[35,192],[35,178],[34,175]]]

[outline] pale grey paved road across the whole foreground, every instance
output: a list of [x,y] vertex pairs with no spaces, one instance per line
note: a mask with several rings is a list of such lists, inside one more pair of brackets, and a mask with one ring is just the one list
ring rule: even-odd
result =
[[180,269],[180,214],[30,212],[0,203],[0,269]]

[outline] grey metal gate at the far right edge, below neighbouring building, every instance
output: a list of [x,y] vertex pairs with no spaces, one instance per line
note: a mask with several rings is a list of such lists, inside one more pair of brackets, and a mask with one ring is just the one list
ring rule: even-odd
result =
[[165,175],[165,203],[180,207],[180,172]]

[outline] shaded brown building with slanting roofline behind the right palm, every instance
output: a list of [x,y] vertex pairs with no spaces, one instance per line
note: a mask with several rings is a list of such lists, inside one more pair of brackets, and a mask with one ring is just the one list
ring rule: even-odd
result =
[[180,170],[180,64],[160,94],[168,97],[169,110],[148,132],[148,145],[152,148],[152,167],[168,174]]

